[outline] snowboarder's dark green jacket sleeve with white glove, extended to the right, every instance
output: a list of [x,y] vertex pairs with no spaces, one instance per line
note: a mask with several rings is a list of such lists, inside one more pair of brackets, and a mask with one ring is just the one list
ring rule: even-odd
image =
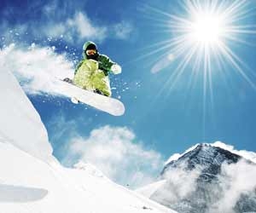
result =
[[121,72],[121,67],[109,59],[107,55],[99,55],[99,69],[104,72],[113,72],[113,74],[119,74]]

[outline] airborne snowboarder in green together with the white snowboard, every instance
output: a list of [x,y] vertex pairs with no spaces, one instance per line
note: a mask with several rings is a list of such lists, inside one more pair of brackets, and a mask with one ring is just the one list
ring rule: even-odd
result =
[[110,73],[121,73],[121,66],[110,60],[107,55],[101,55],[96,44],[90,41],[84,43],[83,56],[84,59],[75,69],[73,79],[65,78],[63,80],[79,87],[74,89],[69,85],[70,89],[73,88],[73,92],[75,92],[74,90],[76,92],[72,94],[69,90],[66,93],[67,96],[70,96],[74,103],[81,101],[110,114],[122,115],[125,112],[125,107],[120,101],[110,97],[112,93],[108,78]]

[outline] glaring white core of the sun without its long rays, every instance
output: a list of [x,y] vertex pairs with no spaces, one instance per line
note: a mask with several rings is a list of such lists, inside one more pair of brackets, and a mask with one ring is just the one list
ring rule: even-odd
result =
[[173,48],[184,49],[184,53],[193,51],[197,58],[206,58],[207,54],[212,59],[213,51],[223,54],[223,50],[229,48],[226,42],[236,37],[233,31],[236,27],[234,13],[238,12],[236,7],[230,9],[218,1],[187,1],[183,7],[187,11],[186,17],[171,15],[170,30],[181,42],[173,45]]

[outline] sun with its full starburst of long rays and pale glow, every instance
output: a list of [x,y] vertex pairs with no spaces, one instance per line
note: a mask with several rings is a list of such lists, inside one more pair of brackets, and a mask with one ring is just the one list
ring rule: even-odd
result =
[[161,83],[155,102],[172,97],[177,91],[188,103],[194,95],[201,95],[197,101],[202,105],[205,126],[207,110],[215,108],[217,91],[232,89],[229,94],[236,96],[241,84],[230,87],[235,81],[256,90],[256,75],[245,62],[245,53],[255,49],[256,4],[248,0],[171,2],[171,11],[166,11],[168,6],[142,8],[156,26],[154,32],[164,40],[143,49],[146,53],[137,60],[150,58],[154,61],[150,69],[153,74],[165,72],[165,82]]

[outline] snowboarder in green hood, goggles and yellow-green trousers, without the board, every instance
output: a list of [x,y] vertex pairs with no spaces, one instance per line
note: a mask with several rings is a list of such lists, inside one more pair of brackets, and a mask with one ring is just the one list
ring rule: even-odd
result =
[[[122,71],[121,67],[107,55],[101,55],[96,43],[90,41],[84,43],[83,56],[84,59],[75,69],[72,83],[82,89],[111,96],[108,74],[119,74]],[[64,81],[71,83],[69,78],[65,78]]]

